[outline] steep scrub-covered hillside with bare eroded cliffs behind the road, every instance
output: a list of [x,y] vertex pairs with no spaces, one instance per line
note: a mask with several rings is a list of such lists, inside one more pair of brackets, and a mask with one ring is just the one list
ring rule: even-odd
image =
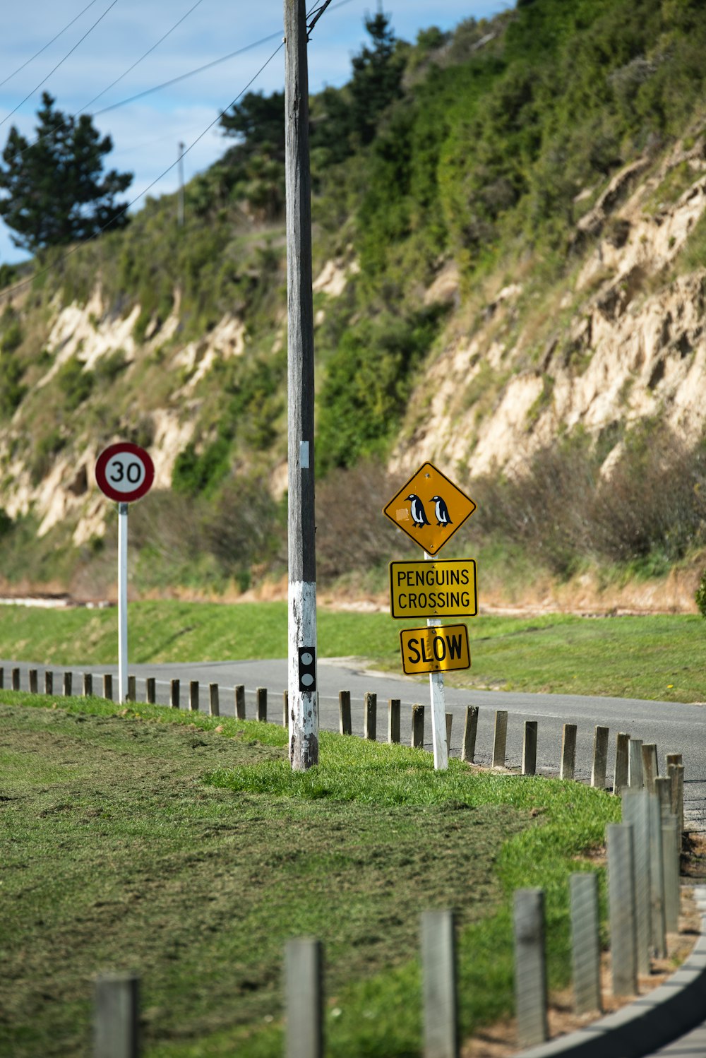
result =
[[[413,44],[379,19],[349,85],[312,98],[323,582],[383,589],[405,545],[378,511],[431,459],[477,499],[488,598],[591,606],[609,588],[688,608],[706,543],[706,12],[524,0]],[[263,139],[238,117],[183,227],[173,198],[150,200],[31,281],[5,276],[11,589],[112,592],[116,519],[92,470],[117,438],[156,468],[131,516],[135,595],[283,576],[282,162],[277,123]]]

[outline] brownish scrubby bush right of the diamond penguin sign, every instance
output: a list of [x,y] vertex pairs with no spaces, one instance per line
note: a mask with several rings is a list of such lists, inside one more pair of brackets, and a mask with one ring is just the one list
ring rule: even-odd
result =
[[666,572],[706,542],[706,448],[638,427],[610,470],[578,435],[535,453],[522,475],[472,485],[476,525],[570,577],[588,559]]

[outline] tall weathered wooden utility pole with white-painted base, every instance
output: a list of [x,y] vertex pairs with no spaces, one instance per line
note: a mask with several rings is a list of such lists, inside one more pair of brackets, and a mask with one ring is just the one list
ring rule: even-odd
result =
[[290,761],[319,759],[314,539],[314,306],[304,0],[284,0]]

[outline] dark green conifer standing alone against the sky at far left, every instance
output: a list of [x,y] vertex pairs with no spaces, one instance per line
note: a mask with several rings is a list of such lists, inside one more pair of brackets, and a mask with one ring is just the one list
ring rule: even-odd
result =
[[35,142],[13,126],[0,166],[0,217],[15,233],[15,245],[33,253],[127,223],[126,203],[115,198],[130,186],[132,174],[104,174],[110,136],[101,138],[88,114],[66,115],[54,102],[42,94]]

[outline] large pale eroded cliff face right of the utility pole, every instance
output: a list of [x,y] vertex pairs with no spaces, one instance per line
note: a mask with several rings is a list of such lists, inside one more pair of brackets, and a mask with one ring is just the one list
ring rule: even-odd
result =
[[[687,186],[666,203],[670,180]],[[706,420],[706,270],[676,266],[705,208],[702,140],[661,165],[627,166],[577,226],[571,279],[545,295],[530,268],[429,364],[390,469],[436,459],[473,476],[521,473],[560,430],[597,437],[646,417],[695,440]],[[442,291],[448,298],[448,275]]]

